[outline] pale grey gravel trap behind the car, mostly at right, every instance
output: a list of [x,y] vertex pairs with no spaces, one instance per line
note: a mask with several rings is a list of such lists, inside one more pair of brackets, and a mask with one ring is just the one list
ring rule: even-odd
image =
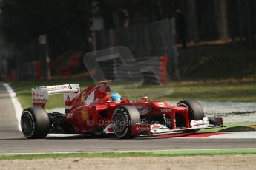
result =
[[[224,123],[246,123],[256,120],[256,102],[206,102],[199,101],[206,116],[220,116]],[[177,102],[168,102],[176,106]],[[64,112],[64,108],[47,110]]]

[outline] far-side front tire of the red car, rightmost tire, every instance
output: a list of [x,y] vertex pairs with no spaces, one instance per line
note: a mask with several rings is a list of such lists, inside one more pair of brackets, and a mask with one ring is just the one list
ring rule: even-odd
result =
[[[204,112],[203,112],[203,108],[200,105],[200,103],[198,103],[198,101],[195,100],[183,100],[180,101],[179,103],[177,103],[177,106],[183,106],[188,108],[188,118],[189,118],[189,123],[191,122],[191,120],[203,120],[204,117]],[[191,129],[191,130],[186,130],[184,132],[197,132],[198,129]]]

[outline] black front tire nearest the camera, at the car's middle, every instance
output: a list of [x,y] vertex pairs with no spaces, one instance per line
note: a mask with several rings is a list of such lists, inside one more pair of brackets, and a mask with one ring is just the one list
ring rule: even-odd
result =
[[133,138],[131,128],[134,123],[141,123],[140,113],[134,106],[120,106],[112,116],[112,126],[116,137]]

